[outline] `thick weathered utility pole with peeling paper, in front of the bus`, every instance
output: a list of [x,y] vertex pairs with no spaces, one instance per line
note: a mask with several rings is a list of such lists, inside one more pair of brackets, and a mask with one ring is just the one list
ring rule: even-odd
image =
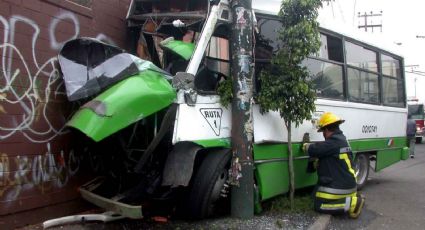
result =
[[254,161],[252,157],[253,15],[251,0],[231,1],[230,54],[233,80],[231,215],[254,216]]

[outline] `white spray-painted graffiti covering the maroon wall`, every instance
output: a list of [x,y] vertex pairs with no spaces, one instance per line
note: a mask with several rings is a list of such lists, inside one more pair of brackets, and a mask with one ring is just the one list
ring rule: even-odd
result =
[[[65,39],[57,37],[63,35],[57,30],[64,21],[74,29]],[[66,101],[56,54],[67,40],[78,36],[80,23],[71,12],[61,11],[51,17],[48,27],[26,16],[0,15],[0,142],[37,144],[47,149],[36,155],[0,151],[3,200],[17,200],[28,190],[45,193],[61,188],[79,169],[79,159],[73,150],[52,152],[50,148],[55,138],[67,132],[65,122],[72,110]],[[28,42],[22,44],[21,37]],[[104,34],[97,38],[114,44]]]

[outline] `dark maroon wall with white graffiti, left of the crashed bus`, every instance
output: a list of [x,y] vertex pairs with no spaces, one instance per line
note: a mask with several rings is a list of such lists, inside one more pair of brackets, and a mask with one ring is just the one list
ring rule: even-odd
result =
[[63,43],[96,37],[122,48],[130,0],[0,0],[0,215],[78,196],[80,158],[64,128]]

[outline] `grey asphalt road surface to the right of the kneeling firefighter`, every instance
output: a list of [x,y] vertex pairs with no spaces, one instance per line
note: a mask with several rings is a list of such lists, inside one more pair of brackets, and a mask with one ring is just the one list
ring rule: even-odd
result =
[[357,220],[332,217],[328,229],[425,229],[425,144],[407,159],[369,174]]

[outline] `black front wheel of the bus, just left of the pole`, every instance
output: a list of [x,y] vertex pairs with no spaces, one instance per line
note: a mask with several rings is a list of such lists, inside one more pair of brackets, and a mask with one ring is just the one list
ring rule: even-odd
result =
[[230,187],[227,184],[231,154],[212,151],[202,161],[189,194],[189,217],[203,219],[224,215],[230,210]]

